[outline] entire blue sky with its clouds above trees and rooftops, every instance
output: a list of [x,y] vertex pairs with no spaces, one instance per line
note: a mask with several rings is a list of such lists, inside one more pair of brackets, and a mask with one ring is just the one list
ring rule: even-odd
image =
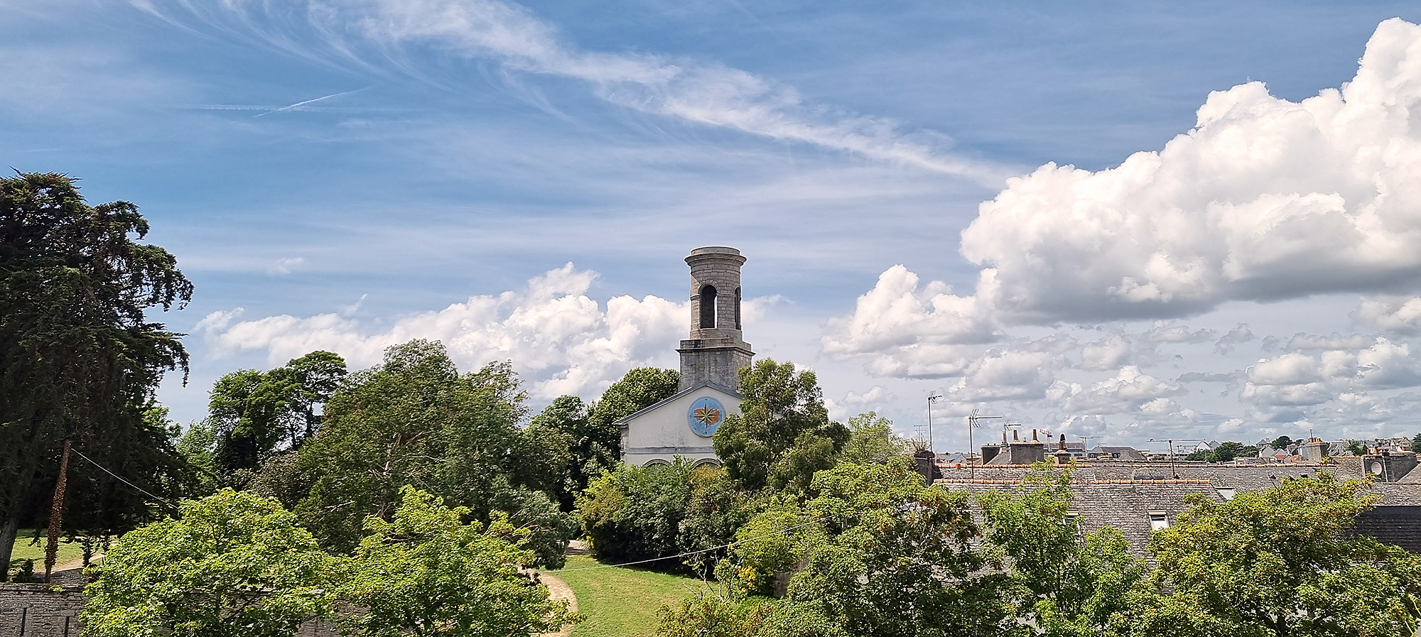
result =
[[[0,1],[0,154],[138,203],[179,257],[193,375],[159,398],[185,422],[227,371],[416,336],[513,358],[534,404],[594,398],[674,363],[681,257],[732,245],[762,355],[904,431],[948,394],[944,449],[973,407],[1140,444],[1414,434],[1421,276],[1370,257],[1421,210],[1421,48],[1393,17],[1421,10]],[[1374,33],[1390,80],[1344,119],[1390,115],[1309,145],[1293,107],[1360,81]],[[1009,186],[1049,162],[1097,179]],[[1145,247],[1088,247],[1117,239]]]

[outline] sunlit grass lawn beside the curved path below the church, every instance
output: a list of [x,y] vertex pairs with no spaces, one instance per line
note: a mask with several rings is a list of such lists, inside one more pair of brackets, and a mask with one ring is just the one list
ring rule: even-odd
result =
[[[567,557],[566,569],[600,566],[585,555]],[[635,569],[550,570],[567,582],[577,596],[577,610],[587,620],[573,628],[573,637],[641,637],[657,634],[657,609],[701,590],[692,577]]]

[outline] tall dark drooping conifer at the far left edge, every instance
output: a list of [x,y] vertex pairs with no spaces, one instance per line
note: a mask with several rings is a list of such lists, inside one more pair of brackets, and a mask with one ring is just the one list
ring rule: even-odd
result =
[[[64,441],[151,492],[180,473],[168,431],[144,411],[165,371],[188,370],[180,334],[149,323],[192,283],[128,202],[90,206],[58,173],[0,179],[0,582],[21,522],[47,509]],[[87,461],[71,496],[91,523],[152,519],[148,496]]]

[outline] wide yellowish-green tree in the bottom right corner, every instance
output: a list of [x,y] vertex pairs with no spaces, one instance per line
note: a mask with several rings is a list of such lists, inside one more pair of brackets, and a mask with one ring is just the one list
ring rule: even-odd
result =
[[1421,560],[1347,532],[1380,499],[1367,485],[1322,472],[1228,502],[1185,496],[1192,508],[1150,543],[1160,589],[1131,599],[1131,634],[1414,633]]

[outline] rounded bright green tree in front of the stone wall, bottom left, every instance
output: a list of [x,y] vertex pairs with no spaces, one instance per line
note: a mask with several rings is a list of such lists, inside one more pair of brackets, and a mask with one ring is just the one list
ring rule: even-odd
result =
[[334,570],[280,503],[225,489],[114,543],[85,589],[84,634],[294,634],[331,614]]

